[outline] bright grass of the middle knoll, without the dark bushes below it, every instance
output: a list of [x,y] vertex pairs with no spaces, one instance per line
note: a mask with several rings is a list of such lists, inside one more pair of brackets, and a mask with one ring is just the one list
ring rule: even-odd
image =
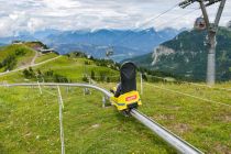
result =
[[[86,61],[89,61],[90,65],[85,65]],[[82,81],[84,74],[90,75],[91,70],[95,72],[96,76],[99,76],[100,73],[105,73],[108,76],[113,76],[112,78],[119,78],[117,70],[112,70],[108,67],[96,66],[95,63],[90,59],[68,58],[67,56],[62,56],[55,61],[33,67],[33,69],[40,69],[43,73],[52,69],[55,74],[63,75],[73,81]],[[18,73],[10,73],[9,75],[0,76],[0,81],[29,82],[34,80],[25,80],[21,70]]]

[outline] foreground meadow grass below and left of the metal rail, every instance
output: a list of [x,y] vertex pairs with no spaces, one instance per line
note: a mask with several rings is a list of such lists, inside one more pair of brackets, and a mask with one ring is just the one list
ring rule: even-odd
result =
[[[81,89],[65,90],[66,153],[174,152],[134,119],[102,109],[101,94],[84,97]],[[1,153],[59,153],[57,97],[40,96],[37,88],[1,89],[0,96]]]

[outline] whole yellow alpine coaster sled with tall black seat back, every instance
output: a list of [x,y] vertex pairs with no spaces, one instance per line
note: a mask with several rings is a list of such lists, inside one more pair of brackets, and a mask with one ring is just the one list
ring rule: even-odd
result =
[[121,82],[112,90],[110,100],[119,111],[129,112],[142,105],[136,90],[136,66],[133,63],[124,63],[120,69],[120,79]]

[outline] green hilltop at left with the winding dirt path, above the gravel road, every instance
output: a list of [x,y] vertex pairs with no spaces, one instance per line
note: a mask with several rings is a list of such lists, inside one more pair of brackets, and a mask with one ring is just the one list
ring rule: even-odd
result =
[[0,73],[34,65],[57,57],[57,53],[42,54],[38,48],[47,48],[42,42],[23,42],[0,47]]

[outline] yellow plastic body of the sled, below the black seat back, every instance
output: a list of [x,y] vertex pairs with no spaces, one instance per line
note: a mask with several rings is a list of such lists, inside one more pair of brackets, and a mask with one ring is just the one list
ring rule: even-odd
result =
[[142,105],[141,98],[138,91],[130,91],[124,95],[119,96],[118,98],[110,98],[113,106],[117,107],[119,111],[130,110],[132,108],[138,108]]

